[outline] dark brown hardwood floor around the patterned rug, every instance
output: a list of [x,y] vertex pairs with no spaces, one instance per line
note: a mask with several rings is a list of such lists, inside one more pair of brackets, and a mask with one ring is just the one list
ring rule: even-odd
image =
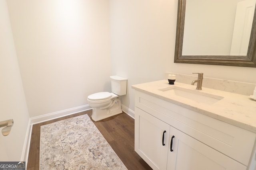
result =
[[[91,117],[92,110],[33,125],[27,170],[39,170],[40,126],[84,114]],[[128,170],[152,170],[134,151],[134,119],[132,117],[126,113],[121,113],[93,122]]]

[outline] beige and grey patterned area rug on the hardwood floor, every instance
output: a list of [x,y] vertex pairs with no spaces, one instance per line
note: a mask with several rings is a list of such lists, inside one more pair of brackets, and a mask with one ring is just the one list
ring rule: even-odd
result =
[[40,170],[127,170],[88,117],[41,126]]

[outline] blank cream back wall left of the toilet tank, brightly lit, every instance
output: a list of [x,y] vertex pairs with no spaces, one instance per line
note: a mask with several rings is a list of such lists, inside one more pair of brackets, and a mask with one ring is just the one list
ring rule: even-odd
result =
[[31,117],[110,91],[108,0],[8,1]]

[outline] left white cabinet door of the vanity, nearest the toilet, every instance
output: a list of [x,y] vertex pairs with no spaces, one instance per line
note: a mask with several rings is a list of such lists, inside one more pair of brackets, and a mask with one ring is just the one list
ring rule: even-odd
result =
[[166,170],[170,125],[135,107],[135,151],[154,170]]

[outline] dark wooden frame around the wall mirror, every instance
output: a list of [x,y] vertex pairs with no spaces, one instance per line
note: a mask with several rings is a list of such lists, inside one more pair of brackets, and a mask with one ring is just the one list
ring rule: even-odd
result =
[[174,63],[256,67],[256,10],[254,10],[254,18],[252,22],[252,31],[250,35],[247,56],[182,55],[185,11],[186,0],[178,0]]

